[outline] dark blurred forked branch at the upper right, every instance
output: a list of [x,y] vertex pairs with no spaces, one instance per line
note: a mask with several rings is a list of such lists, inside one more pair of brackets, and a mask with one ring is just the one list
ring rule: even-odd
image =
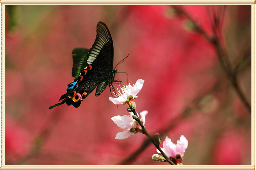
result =
[[[220,60],[220,63],[222,68],[224,69],[224,72],[227,74],[227,77],[229,78],[231,84],[235,88],[235,91],[237,92],[239,98],[243,102],[245,108],[249,111],[249,113],[251,113],[251,106],[248,100],[246,99],[245,94],[242,92],[238,83],[237,69],[233,68],[232,62],[229,60],[229,56],[224,48],[224,45],[221,39],[221,35],[222,35],[221,24],[223,23],[223,20],[224,20],[223,18],[224,18],[225,6],[224,7],[221,6],[221,9],[218,12],[213,10],[212,15],[210,13],[210,10],[207,9],[210,17],[213,33],[214,33],[213,37],[209,36],[181,6],[171,5],[171,7],[176,10],[178,15],[185,16],[187,19],[189,19],[194,25],[194,30],[197,33],[203,35],[203,37],[205,37],[205,39],[208,42],[210,42],[215,46],[218,59]],[[248,54],[245,54],[244,56],[245,56],[244,58],[247,58]]]

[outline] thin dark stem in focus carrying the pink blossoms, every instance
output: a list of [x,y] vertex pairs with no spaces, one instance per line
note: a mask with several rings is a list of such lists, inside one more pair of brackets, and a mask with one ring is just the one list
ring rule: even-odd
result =
[[173,161],[171,161],[167,155],[165,155],[165,153],[162,151],[162,149],[160,148],[160,146],[158,144],[155,144],[152,136],[148,133],[147,129],[144,127],[144,125],[142,124],[142,122],[140,121],[138,115],[137,115],[137,111],[134,107],[130,107],[130,109],[132,110],[133,112],[133,119],[135,119],[139,125],[141,126],[142,130],[143,130],[143,134],[145,134],[150,140],[151,142],[156,146],[156,148],[160,151],[160,153],[163,155],[163,157],[166,159],[167,162],[169,162],[171,165],[175,165],[175,163],[173,163]]

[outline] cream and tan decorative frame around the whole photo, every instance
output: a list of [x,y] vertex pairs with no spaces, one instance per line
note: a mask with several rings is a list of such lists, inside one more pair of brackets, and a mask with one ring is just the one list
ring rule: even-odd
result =
[[[227,4],[227,5],[251,5],[252,9],[252,54],[254,51],[254,57],[252,58],[252,112],[255,113],[255,54],[256,54],[256,43],[255,43],[255,4],[256,0],[0,0],[1,3],[1,170],[11,170],[11,169],[254,169],[255,170],[255,114],[252,114],[252,146],[254,148],[254,152],[251,155],[251,163],[252,165],[244,165],[244,166],[165,166],[165,165],[141,165],[141,166],[108,166],[108,165],[98,165],[98,166],[13,166],[13,165],[5,165],[5,6],[8,4],[12,5],[22,5],[22,4],[30,4],[30,5],[38,5],[38,4],[45,4],[45,5],[66,5],[66,4],[81,4],[81,5],[113,5],[113,4],[121,4],[121,5],[149,5],[149,4],[197,4],[197,5],[217,5],[217,4]],[[253,14],[254,12],[254,14]],[[254,17],[253,17],[254,16]],[[253,26],[254,23],[254,26]],[[254,35],[254,36],[253,36]],[[254,81],[253,81],[254,80]],[[3,125],[3,126],[2,126]],[[3,155],[2,155],[3,153]]]

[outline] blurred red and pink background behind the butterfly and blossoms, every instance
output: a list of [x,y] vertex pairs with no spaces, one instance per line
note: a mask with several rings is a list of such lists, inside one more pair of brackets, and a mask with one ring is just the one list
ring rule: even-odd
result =
[[[213,35],[207,10],[220,6],[182,6]],[[49,110],[66,92],[76,47],[91,48],[96,25],[104,22],[114,42],[114,66],[128,82],[145,80],[135,100],[148,110],[145,127],[174,143],[188,140],[185,165],[250,165],[251,114],[221,68],[216,48],[195,32],[186,17],[166,5],[15,5],[6,6],[6,164],[168,165],[154,162],[146,136],[115,139],[121,130],[111,120],[127,115],[108,100],[109,88],[93,91],[79,108]],[[251,6],[225,7],[224,47],[251,103]],[[249,50],[249,55],[246,51]],[[116,74],[127,85],[127,76]],[[160,144],[162,146],[162,144]],[[131,156],[130,161],[124,161]]]

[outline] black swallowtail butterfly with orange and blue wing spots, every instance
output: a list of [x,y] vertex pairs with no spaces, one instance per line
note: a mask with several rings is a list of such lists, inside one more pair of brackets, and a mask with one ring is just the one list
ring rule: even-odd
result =
[[[114,47],[108,27],[103,22],[97,24],[96,40],[90,50],[75,48],[72,51],[72,76],[76,77],[68,84],[67,93],[63,94],[57,103],[49,109],[66,103],[78,108],[81,101],[87,97],[97,86],[95,95],[100,95],[112,82],[115,81],[117,69],[112,70],[114,60]],[[117,81],[117,80],[116,80]]]

